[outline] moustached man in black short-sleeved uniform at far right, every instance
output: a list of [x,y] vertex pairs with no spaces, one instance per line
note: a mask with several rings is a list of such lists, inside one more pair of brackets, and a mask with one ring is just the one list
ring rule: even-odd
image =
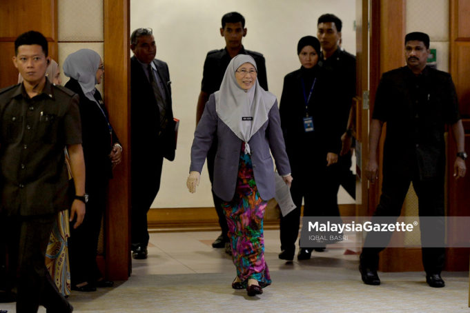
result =
[[[464,129],[451,76],[426,66],[429,36],[411,32],[404,41],[407,66],[384,73],[375,96],[366,165],[366,176],[371,183],[378,178],[378,143],[384,123],[386,139],[382,195],[372,222],[395,221],[413,182],[420,216],[435,216],[430,222],[423,219],[420,222],[426,281],[431,287],[444,287],[440,276],[445,252],[444,222],[440,219],[444,216],[444,125],[451,126],[457,143],[453,174],[456,179],[463,177],[466,171]],[[383,216],[394,216],[394,219],[390,221]],[[391,232],[371,232],[366,236],[360,256],[364,283],[380,284],[378,254],[389,243],[390,237]],[[442,245],[431,241],[435,238]]]

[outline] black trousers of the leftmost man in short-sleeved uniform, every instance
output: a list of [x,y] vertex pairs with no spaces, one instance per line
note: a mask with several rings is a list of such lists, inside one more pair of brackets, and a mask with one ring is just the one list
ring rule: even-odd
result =
[[8,251],[8,282],[17,286],[17,313],[37,312],[39,305],[48,312],[68,312],[46,269],[46,249],[57,214],[41,216],[0,216],[1,236]]

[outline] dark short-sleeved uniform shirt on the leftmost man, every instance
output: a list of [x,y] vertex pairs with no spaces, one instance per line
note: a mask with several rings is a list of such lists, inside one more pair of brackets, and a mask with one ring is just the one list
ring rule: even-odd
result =
[[40,215],[66,210],[63,148],[81,143],[78,96],[48,79],[30,98],[23,84],[0,90],[0,212]]

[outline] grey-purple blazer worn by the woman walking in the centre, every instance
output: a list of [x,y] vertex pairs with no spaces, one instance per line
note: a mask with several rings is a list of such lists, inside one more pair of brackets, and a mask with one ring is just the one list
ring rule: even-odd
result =
[[[219,119],[215,112],[215,97],[210,94],[202,118],[197,125],[193,146],[191,147],[190,171],[202,171],[207,152],[217,136],[217,154],[214,164],[213,191],[224,201],[231,201],[235,194],[238,164],[242,150],[242,140]],[[251,161],[258,192],[263,200],[269,200],[275,194],[273,153],[277,172],[281,175],[291,173],[286,154],[286,145],[282,137],[281,122],[277,101],[269,111],[268,121],[262,125],[250,141]]]

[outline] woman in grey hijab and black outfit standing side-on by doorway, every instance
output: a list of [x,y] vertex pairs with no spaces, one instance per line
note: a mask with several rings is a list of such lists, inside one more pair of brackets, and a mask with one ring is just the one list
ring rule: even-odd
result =
[[[111,287],[96,263],[101,218],[106,209],[108,181],[112,168],[121,162],[121,145],[110,125],[108,111],[95,85],[101,83],[104,64],[97,52],[81,49],[68,55],[63,73],[70,80],[66,88],[79,94],[82,146],[86,166],[85,188],[88,194],[84,222],[72,229],[69,239],[72,290],[95,291]],[[87,197],[87,196],[86,196]]]

